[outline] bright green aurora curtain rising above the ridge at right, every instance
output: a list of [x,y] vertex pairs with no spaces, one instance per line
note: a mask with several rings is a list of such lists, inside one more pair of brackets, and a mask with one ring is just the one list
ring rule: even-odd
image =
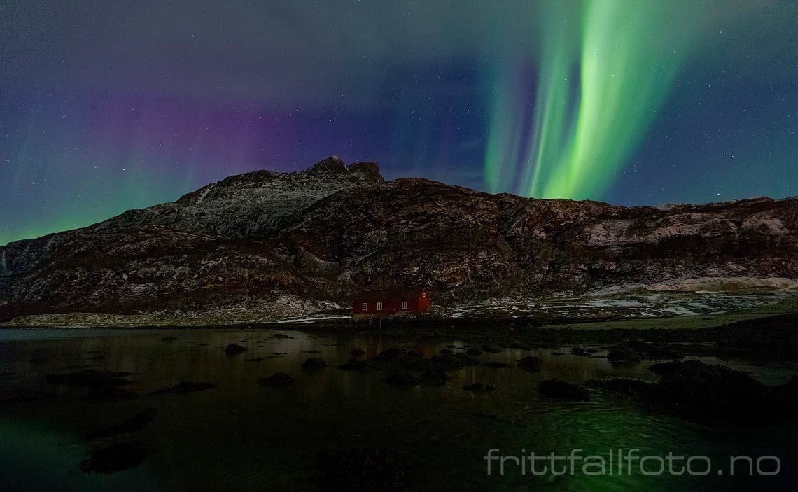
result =
[[[544,4],[531,122],[523,62],[494,73],[488,190],[600,199],[674,84],[698,8],[636,0]],[[685,16],[687,9],[693,15]]]

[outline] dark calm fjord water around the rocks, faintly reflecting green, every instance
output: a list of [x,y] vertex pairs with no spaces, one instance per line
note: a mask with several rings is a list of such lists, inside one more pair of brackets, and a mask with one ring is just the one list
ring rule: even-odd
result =
[[[275,333],[290,338],[275,338]],[[230,343],[248,350],[227,356],[223,348]],[[318,490],[314,458],[332,447],[385,447],[405,455],[411,463],[409,490],[794,490],[798,483],[795,424],[705,425],[618,407],[598,395],[587,403],[565,403],[535,391],[540,380],[551,377],[574,383],[607,376],[654,380],[646,363],[614,367],[606,359],[554,356],[550,349],[504,348],[484,354],[484,361],[514,364],[534,355],[543,359],[541,370],[477,366],[452,372],[456,379],[450,383],[415,388],[385,384],[381,371],[300,367],[310,356],[342,364],[352,348],[374,356],[402,346],[431,356],[446,345],[468,343],[378,333],[0,330],[0,401],[5,402],[0,405],[0,490]],[[749,371],[765,384],[782,384],[796,373],[794,365],[724,364]],[[135,373],[126,388],[142,394],[180,381],[218,387],[93,401],[79,389],[45,381],[46,374],[81,366]],[[275,372],[288,372],[296,382],[284,388],[257,384]],[[496,391],[462,389],[476,381]],[[81,472],[78,464],[102,443],[86,441],[85,435],[147,408],[157,411],[151,423],[135,435],[117,436],[144,443],[148,459],[143,465],[109,475]],[[492,448],[516,456],[531,451],[568,455],[579,448],[582,455],[607,460],[610,449],[638,448],[639,455],[708,456],[713,470],[701,476],[645,475],[639,469],[590,476],[580,473],[578,465],[574,475],[532,475],[508,462],[501,475],[493,462],[488,475],[484,455]],[[729,476],[729,456],[736,455],[777,456],[780,474]],[[651,470],[658,468],[651,465]],[[703,470],[703,462],[695,468]]]

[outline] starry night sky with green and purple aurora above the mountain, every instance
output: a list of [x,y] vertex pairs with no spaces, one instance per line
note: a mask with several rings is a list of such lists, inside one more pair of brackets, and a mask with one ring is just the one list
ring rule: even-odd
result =
[[798,2],[0,3],[0,244],[327,155],[622,205],[798,195]]

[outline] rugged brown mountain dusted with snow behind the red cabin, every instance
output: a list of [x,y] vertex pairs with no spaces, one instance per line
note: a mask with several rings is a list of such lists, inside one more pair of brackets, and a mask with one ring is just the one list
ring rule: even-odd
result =
[[614,207],[386,183],[374,163],[328,158],[12,242],[0,248],[0,319],[312,306],[408,285],[460,303],[680,278],[794,278],[796,258],[798,199]]

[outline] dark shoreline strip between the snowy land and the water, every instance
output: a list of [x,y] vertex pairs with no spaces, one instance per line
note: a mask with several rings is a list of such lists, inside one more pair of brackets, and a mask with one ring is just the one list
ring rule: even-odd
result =
[[[429,319],[403,320],[381,329],[346,323],[242,323],[228,325],[146,325],[146,326],[0,326],[0,329],[143,329],[143,330],[268,330],[315,334],[379,333],[386,337],[416,340],[467,339],[473,343],[503,348],[562,349],[587,344],[628,352],[618,364],[649,360],[649,352],[678,353],[683,356],[711,356],[720,360],[749,360],[754,364],[798,363],[798,311],[788,313],[741,313],[714,317],[658,318],[657,320],[561,322],[543,324],[502,324]],[[654,323],[652,323],[654,321]],[[727,322],[722,322],[727,321]],[[636,347],[629,349],[630,347]],[[641,348],[642,347],[642,348]]]

